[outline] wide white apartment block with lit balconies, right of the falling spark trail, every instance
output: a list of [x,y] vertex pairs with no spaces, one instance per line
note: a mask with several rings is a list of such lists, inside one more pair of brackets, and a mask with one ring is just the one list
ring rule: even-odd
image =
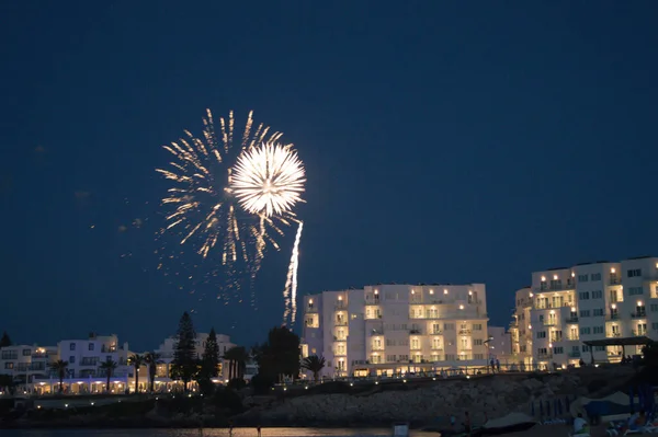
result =
[[304,297],[303,354],[324,376],[400,375],[486,366],[484,284],[376,285]]

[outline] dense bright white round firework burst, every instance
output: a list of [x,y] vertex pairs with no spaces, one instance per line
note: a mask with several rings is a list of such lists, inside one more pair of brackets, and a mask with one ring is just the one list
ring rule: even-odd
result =
[[266,217],[284,215],[302,200],[304,166],[291,146],[262,143],[238,158],[231,191],[240,206]]

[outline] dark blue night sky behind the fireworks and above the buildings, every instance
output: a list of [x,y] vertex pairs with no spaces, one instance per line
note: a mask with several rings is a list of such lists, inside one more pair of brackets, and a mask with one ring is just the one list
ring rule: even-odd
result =
[[658,252],[658,3],[413,3],[2,2],[0,329],[280,322],[292,231],[258,311],[155,268],[160,146],[206,107],[297,146],[303,294],[483,281],[501,324],[533,271]]

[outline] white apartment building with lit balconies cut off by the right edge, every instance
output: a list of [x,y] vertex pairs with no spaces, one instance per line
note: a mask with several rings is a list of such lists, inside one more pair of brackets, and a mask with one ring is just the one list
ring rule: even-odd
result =
[[[581,358],[617,361],[622,354],[642,352],[642,345],[622,343],[658,340],[658,257],[535,272],[530,310],[524,294],[517,292],[511,326],[518,334],[515,350],[540,368],[577,365]],[[583,343],[592,341],[604,342],[591,348]]]

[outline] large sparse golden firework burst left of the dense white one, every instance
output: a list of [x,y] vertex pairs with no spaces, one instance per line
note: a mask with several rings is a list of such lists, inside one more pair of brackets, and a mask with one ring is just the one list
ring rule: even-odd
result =
[[[230,188],[235,157],[259,143],[276,141],[282,136],[281,133],[269,134],[270,128],[262,124],[252,130],[252,114],[249,113],[245,131],[238,137],[240,142],[236,148],[232,112],[229,113],[228,120],[219,119],[220,134],[217,136],[213,115],[207,111],[202,138],[185,131],[185,138],[164,146],[174,161],[170,162],[169,170],[157,170],[175,184],[162,199],[162,204],[174,207],[167,216],[166,230],[178,229],[181,244],[192,238],[198,239],[194,245],[204,258],[211,250],[220,246],[224,265],[232,264],[240,257],[249,261],[247,240],[251,237],[264,231],[265,234],[259,238],[273,241],[266,234],[268,228],[281,233],[273,219],[264,221],[269,227],[259,226],[257,216],[249,223],[242,223],[238,217],[237,198]],[[262,257],[262,244],[254,246],[261,248],[256,257]]]

